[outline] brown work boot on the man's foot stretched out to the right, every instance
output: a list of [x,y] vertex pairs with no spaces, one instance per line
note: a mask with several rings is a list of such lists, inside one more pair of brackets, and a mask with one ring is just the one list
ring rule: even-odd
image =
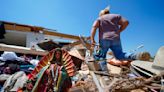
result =
[[136,55],[137,60],[149,61],[150,60],[150,53],[149,52],[139,52]]

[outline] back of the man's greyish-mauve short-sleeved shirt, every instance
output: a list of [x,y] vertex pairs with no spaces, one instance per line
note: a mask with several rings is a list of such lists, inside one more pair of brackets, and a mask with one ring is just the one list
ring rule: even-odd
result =
[[119,38],[119,14],[106,14],[98,18],[99,21],[99,38],[100,39],[117,39]]

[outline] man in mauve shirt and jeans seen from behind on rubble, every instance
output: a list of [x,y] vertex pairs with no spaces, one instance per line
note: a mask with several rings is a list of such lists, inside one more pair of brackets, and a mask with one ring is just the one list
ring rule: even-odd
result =
[[[99,60],[105,59],[106,53],[110,48],[113,55],[118,60],[135,60],[149,53],[129,54],[122,51],[120,33],[126,29],[129,22],[119,14],[110,14],[109,7],[101,10],[99,18],[95,20],[91,29],[91,48],[93,49],[96,42],[94,40],[96,30],[99,29],[99,44],[100,51],[94,55],[94,58]],[[143,54],[143,55],[141,55]],[[149,55],[148,55],[149,54]]]

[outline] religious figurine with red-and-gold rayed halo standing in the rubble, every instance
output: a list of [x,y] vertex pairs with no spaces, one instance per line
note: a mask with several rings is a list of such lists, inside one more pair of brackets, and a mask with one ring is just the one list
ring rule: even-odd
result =
[[75,66],[69,53],[54,49],[44,56],[30,75],[27,92],[68,92]]

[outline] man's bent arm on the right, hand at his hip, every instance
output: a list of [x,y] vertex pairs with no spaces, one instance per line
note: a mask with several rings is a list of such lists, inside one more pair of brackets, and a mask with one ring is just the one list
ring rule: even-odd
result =
[[128,26],[129,21],[121,17],[118,24],[120,25],[120,30],[118,32],[121,33]]

